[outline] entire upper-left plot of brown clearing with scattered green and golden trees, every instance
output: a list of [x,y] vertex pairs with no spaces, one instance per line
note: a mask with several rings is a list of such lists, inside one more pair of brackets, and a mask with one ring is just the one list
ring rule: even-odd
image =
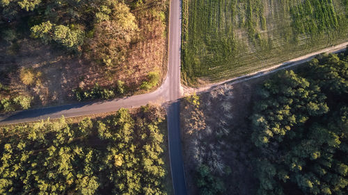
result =
[[0,112],[152,90],[165,0],[0,0]]

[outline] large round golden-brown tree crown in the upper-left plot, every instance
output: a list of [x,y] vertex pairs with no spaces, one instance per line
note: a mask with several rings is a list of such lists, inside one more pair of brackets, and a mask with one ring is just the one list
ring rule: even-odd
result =
[[138,29],[134,15],[125,3],[106,1],[95,17],[91,56],[107,66],[125,61],[127,47]]

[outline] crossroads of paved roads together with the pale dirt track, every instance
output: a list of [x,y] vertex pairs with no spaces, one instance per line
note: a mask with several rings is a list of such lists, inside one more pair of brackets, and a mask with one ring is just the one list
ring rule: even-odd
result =
[[[120,108],[133,108],[147,103],[168,103],[168,144],[171,161],[171,174],[173,178],[174,193],[177,195],[186,195],[186,180],[184,177],[184,167],[182,162],[182,149],[180,139],[180,103],[178,99],[182,96],[180,92],[180,46],[181,46],[181,1],[171,0],[170,23],[169,23],[169,56],[168,56],[168,74],[164,83],[155,92],[131,96],[124,99],[114,99],[112,101],[100,101],[94,103],[74,103],[70,105],[61,105],[49,108],[40,108],[35,110],[25,110],[14,112],[10,115],[0,115],[1,124],[16,124],[20,122],[37,121],[40,119],[55,119],[64,115],[65,117],[78,117],[83,115],[92,115],[102,112],[112,112]],[[223,83],[239,83],[244,80],[258,78],[270,74],[279,69],[285,69],[306,62],[319,53],[333,53],[342,51],[346,48],[348,42],[332,46],[321,51],[310,53],[306,56],[295,58],[287,62],[275,65],[253,74],[232,78],[221,83],[201,87],[196,92],[212,90]]]

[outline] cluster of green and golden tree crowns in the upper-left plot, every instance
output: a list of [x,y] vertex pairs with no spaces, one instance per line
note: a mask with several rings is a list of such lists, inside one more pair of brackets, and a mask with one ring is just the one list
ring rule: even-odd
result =
[[104,65],[125,60],[138,29],[136,17],[123,1],[1,0],[0,6],[1,16],[8,22],[29,18],[31,36],[44,44],[58,44],[70,52],[84,51]]

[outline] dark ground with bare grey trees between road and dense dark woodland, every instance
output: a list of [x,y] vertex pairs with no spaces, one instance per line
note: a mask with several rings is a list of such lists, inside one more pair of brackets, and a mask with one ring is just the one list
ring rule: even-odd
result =
[[[205,128],[199,132],[188,133],[192,130],[189,122],[193,110],[192,103],[187,100],[181,103],[181,129],[183,142],[184,169],[187,178],[188,194],[199,194],[196,187],[196,168],[199,160],[194,150],[197,145],[205,147],[203,163],[209,162],[209,152],[219,155],[220,161],[230,167],[230,175],[212,171],[214,176],[223,180],[226,187],[225,194],[255,194],[258,181],[253,176],[251,159],[254,150],[250,141],[251,130],[248,129],[248,117],[255,102],[255,90],[259,83],[267,77],[256,78],[236,85],[225,85],[218,90],[200,94],[200,111],[203,112]],[[222,128],[228,132],[223,133]],[[212,133],[207,131],[212,130]],[[209,150],[212,151],[209,151]]]

